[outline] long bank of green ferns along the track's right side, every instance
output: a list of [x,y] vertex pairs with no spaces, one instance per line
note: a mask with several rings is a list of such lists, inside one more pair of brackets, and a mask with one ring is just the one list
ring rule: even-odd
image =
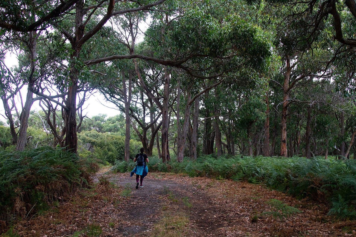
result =
[[[130,172],[135,163],[117,162],[117,172]],[[296,196],[329,203],[329,214],[349,219],[356,218],[356,160],[304,157],[234,157],[201,156],[197,161],[184,158],[162,163],[150,157],[150,172],[187,173],[191,177],[230,178],[268,187]]]

